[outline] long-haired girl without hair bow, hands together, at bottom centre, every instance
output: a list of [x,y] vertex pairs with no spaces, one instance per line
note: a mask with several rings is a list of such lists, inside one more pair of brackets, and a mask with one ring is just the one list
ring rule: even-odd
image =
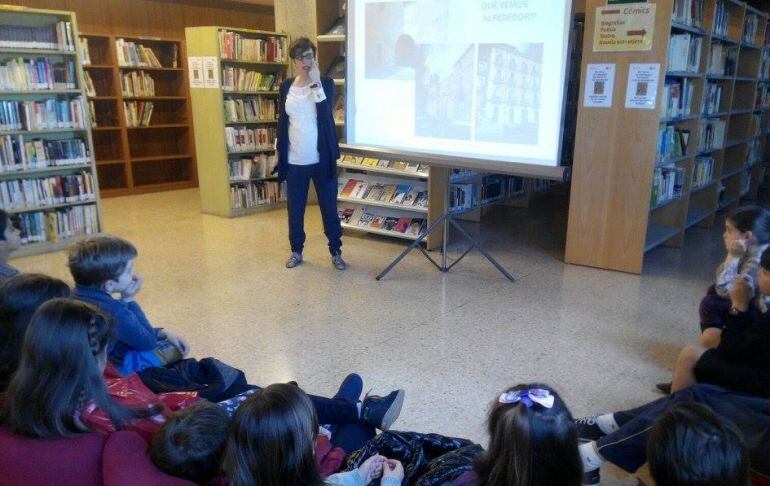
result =
[[238,407],[223,460],[231,486],[365,486],[382,478],[398,486],[400,462],[376,455],[353,471],[321,478],[314,458],[318,420],[310,399],[296,386],[270,385]]

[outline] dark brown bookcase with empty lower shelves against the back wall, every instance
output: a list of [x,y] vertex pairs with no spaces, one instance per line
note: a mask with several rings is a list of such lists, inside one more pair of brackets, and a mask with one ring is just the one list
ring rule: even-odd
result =
[[[100,34],[81,34],[80,42],[84,76],[93,86],[88,102],[104,196],[195,187],[184,42]],[[132,45],[150,49],[155,65],[126,59]],[[141,108],[150,115],[144,123],[137,120]]]

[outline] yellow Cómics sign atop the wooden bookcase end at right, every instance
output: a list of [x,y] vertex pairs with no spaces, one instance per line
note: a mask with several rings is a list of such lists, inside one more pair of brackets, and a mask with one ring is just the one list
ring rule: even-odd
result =
[[626,3],[596,9],[594,52],[650,51],[655,39],[654,3]]

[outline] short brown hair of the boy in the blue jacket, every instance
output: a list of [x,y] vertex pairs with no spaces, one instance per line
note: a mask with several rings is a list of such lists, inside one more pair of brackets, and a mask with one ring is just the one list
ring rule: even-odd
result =
[[99,287],[118,278],[136,255],[136,247],[122,238],[94,236],[72,247],[68,263],[76,284]]

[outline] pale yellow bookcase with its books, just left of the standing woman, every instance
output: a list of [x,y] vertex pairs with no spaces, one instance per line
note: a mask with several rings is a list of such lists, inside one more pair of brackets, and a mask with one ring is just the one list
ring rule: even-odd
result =
[[[190,56],[216,58],[221,79],[216,89],[190,89],[203,212],[235,217],[284,206],[284,185],[271,170],[278,87],[289,67],[288,37],[260,30],[188,27],[186,38]],[[244,47],[236,54],[231,45],[256,50]]]

